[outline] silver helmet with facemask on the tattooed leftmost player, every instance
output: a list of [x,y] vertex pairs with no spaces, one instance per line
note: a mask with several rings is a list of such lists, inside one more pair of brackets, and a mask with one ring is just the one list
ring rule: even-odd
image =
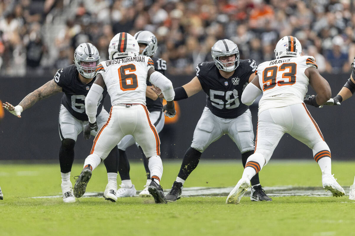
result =
[[100,55],[97,48],[89,42],[79,44],[74,52],[74,62],[78,72],[87,79],[96,76],[96,66],[99,64]]

